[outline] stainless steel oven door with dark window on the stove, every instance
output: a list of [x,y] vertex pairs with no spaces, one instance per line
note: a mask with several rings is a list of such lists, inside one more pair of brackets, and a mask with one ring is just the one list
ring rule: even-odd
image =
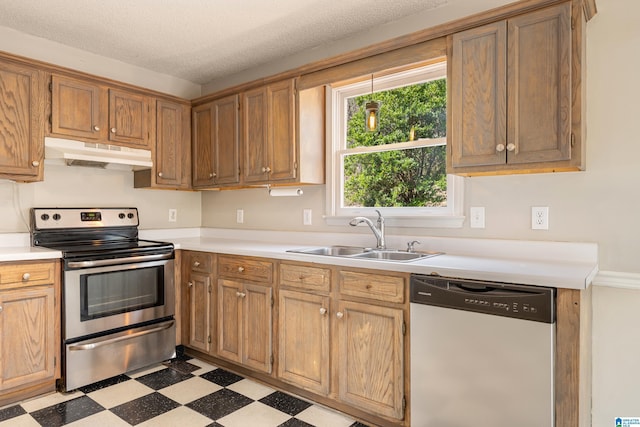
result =
[[173,274],[173,259],[65,270],[65,341],[173,316]]

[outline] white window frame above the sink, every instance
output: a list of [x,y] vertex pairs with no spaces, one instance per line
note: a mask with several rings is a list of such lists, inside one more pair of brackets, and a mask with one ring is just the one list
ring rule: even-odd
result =
[[[423,83],[446,76],[446,63],[439,62],[394,74],[376,77],[374,92],[390,90],[410,84]],[[349,154],[388,150],[388,146],[346,149],[346,100],[371,92],[371,80],[327,88],[327,191],[325,220],[330,225],[344,225],[354,216],[375,217],[379,210],[387,225],[396,227],[461,228],[464,222],[464,180],[456,175],[447,175],[446,207],[402,207],[402,208],[346,208],[342,207],[344,176],[343,156]],[[398,149],[419,148],[446,144],[446,138],[408,141],[394,144]]]

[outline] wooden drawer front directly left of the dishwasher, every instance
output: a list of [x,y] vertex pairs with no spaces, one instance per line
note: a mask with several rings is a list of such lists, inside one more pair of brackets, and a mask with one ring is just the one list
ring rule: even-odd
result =
[[340,293],[387,302],[404,302],[404,277],[341,271]]

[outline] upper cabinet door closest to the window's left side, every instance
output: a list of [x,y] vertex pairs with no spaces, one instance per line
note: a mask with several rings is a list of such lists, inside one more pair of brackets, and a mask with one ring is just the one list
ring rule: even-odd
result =
[[286,80],[267,87],[269,180],[296,178],[295,90]]

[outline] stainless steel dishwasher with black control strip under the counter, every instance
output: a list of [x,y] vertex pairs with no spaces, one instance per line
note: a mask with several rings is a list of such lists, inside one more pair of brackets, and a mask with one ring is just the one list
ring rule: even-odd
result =
[[411,426],[554,425],[555,289],[411,276]]

